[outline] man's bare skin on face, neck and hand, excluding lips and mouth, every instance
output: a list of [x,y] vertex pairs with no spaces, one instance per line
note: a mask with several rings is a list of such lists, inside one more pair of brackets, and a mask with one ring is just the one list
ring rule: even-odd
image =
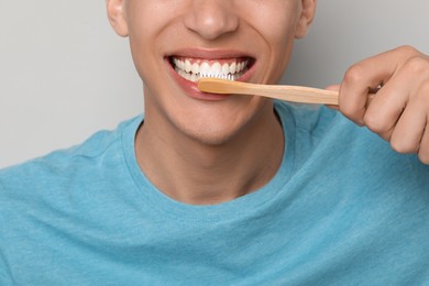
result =
[[[193,205],[224,202],[264,186],[284,151],[272,100],[193,98],[166,58],[251,56],[246,81],[275,84],[294,40],[307,33],[316,0],[107,0],[107,9],[116,32],[129,37],[144,82],[145,120],[135,154],[148,179]],[[339,109],[348,118],[429,163],[428,74],[427,57],[403,47],[358,63],[330,88],[340,90]],[[366,108],[369,87],[380,82],[384,87]]]

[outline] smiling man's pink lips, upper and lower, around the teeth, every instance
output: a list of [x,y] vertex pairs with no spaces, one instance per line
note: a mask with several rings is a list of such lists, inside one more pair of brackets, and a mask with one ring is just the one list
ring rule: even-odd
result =
[[243,57],[253,58],[254,59],[253,65],[249,68],[249,70],[243,76],[237,79],[238,81],[249,81],[255,72],[255,64],[256,64],[254,56],[242,52],[235,52],[235,51],[220,51],[220,50],[206,51],[206,50],[187,48],[187,50],[182,50],[172,53],[168,56],[165,56],[164,62],[168,67],[169,74],[172,75],[173,79],[178,84],[178,86],[185,91],[185,94],[194,99],[209,100],[209,101],[224,100],[230,98],[232,95],[217,95],[217,94],[208,94],[208,92],[200,91],[197,87],[197,82],[187,80],[176,73],[173,65],[170,64],[172,56],[198,58],[201,61],[217,61],[217,59],[226,61],[229,58],[243,58]]

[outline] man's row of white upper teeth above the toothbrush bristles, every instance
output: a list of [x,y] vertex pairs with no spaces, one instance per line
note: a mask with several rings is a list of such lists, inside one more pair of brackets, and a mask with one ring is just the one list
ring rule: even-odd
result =
[[249,59],[221,64],[219,62],[194,62],[185,58],[173,58],[176,72],[188,80],[196,81],[200,77],[220,77],[234,80],[243,74]]

